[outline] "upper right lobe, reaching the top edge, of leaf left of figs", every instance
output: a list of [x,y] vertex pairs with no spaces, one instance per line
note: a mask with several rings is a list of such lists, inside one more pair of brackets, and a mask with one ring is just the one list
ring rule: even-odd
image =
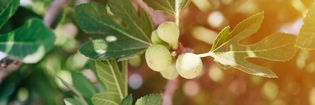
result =
[[140,8],[140,19],[130,0],[109,0],[108,5],[111,12],[125,22],[129,34],[140,40],[151,42],[150,35],[153,25],[143,8]]

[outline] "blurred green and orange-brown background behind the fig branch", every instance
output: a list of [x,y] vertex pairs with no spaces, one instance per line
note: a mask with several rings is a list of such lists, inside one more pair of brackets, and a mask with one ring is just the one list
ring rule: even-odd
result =
[[[14,30],[28,19],[42,18],[52,2],[21,0],[21,7],[0,33]],[[73,71],[93,77],[94,62],[77,51],[93,36],[85,34],[76,24],[75,6],[86,2],[89,1],[69,0],[62,7],[53,26],[57,37],[54,48],[40,62],[23,64],[1,82],[0,104],[64,104],[63,98],[72,97],[73,93],[55,74],[69,83]],[[261,28],[241,44],[254,44],[277,32],[297,35],[303,17],[313,4],[313,0],[192,0],[181,14],[180,42],[193,48],[196,54],[208,52],[224,27],[230,26],[232,30],[239,22],[263,11]],[[172,16],[164,15],[168,21],[174,21]],[[224,70],[212,57],[204,57],[199,76],[179,78],[174,104],[315,104],[314,51],[299,49],[286,62],[247,60],[272,69],[278,78],[250,75],[234,68]],[[146,66],[143,55],[129,60],[128,75],[129,93],[134,99],[161,93],[168,81]],[[91,80],[96,82],[95,78]]]

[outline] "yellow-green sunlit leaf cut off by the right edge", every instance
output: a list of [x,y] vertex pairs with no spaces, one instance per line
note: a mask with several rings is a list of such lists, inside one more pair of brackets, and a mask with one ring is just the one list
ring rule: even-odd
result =
[[295,46],[314,50],[315,49],[315,5],[313,5],[307,12],[306,17],[304,18],[304,24],[300,29],[300,32],[297,36]]

